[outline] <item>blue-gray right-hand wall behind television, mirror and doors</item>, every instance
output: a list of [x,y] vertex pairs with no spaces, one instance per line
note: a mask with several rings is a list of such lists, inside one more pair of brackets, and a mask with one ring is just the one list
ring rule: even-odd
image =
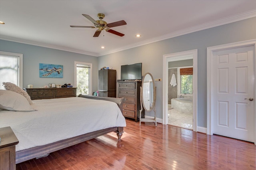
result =
[[[223,26],[150,43],[117,53],[101,56],[99,67],[110,66],[117,70],[120,79],[120,66],[142,62],[142,74],[149,72],[154,79],[163,77],[163,55],[198,49],[198,126],[206,127],[206,51],[207,47],[226,43],[256,39],[256,17]],[[162,119],[162,81],[156,82],[156,111]],[[146,113],[147,114],[147,113]],[[153,112],[149,113],[153,116]]]

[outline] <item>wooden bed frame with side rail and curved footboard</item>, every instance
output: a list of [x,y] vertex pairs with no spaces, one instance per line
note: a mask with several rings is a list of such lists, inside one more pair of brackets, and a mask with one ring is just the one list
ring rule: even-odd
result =
[[[106,100],[115,102],[120,110],[122,111],[122,105],[124,102],[124,98],[112,98],[112,97],[98,97],[91,95],[78,95],[78,97],[84,97],[87,99],[95,99],[95,100]],[[97,130],[95,132],[90,132],[86,134],[82,134],[80,136],[75,136],[72,138],[60,140],[54,143],[46,144],[43,146],[36,146],[33,148],[28,148],[25,150],[20,150],[16,152],[16,164],[20,162],[24,162],[26,160],[30,160],[33,158],[37,158],[43,155],[47,155],[48,153],[84,142],[86,140],[90,140],[92,138],[96,138],[98,136],[102,136],[104,134],[108,134],[110,132],[116,132],[118,140],[121,139],[122,133],[124,132],[124,127],[111,127],[102,130]]]

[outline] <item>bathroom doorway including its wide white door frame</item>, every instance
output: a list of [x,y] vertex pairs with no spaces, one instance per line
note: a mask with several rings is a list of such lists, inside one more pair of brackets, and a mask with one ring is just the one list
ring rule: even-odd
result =
[[[163,124],[197,131],[197,49],[163,57]],[[181,71],[190,73],[184,74]],[[176,82],[172,79],[173,75]],[[192,87],[183,88],[181,81],[190,78]]]

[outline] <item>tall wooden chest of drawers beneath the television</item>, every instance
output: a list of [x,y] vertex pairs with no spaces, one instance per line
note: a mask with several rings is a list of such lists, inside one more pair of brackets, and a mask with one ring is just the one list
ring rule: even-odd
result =
[[[117,81],[117,97],[124,98],[122,113],[124,117],[140,120],[140,87],[141,81]],[[144,118],[144,110],[142,111]]]

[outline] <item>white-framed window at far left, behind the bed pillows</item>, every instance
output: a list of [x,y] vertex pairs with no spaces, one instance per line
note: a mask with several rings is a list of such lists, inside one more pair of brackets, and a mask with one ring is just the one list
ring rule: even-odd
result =
[[0,51],[0,89],[3,82],[11,82],[22,88],[23,54]]

